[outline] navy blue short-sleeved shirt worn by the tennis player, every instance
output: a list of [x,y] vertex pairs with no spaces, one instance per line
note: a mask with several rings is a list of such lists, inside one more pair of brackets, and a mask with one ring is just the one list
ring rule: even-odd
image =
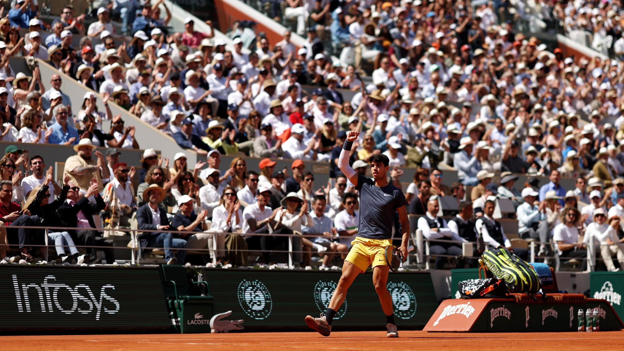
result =
[[392,184],[375,185],[373,179],[358,174],[358,236],[368,239],[392,239],[394,212],[407,204],[403,191]]

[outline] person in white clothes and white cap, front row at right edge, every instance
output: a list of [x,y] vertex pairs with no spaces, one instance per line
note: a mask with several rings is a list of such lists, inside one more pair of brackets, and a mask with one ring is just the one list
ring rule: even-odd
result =
[[[593,214],[593,222],[585,229],[583,244],[588,245],[595,240],[600,245],[600,255],[609,272],[617,272],[624,269],[624,251],[622,239],[618,236],[620,231],[620,217],[611,217],[607,223],[605,210],[597,209]],[[613,265],[612,256],[617,255],[618,267]]]

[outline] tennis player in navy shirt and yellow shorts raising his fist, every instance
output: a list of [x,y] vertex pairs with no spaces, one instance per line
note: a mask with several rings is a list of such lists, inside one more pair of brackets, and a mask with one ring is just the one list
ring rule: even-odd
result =
[[371,172],[373,179],[356,174],[349,166],[349,152],[353,142],[358,139],[359,132],[347,132],[343,150],[340,152],[338,167],[346,177],[356,186],[359,191],[359,229],[358,235],[351,244],[353,247],[344,259],[343,275],[340,277],[338,286],[329,301],[329,307],[321,317],[306,316],[306,324],[321,335],[328,337],[331,333],[331,322],[336,311],[343,304],[347,290],[353,284],[353,280],[360,273],[364,273],[369,265],[373,264],[373,283],[379,295],[381,308],[386,314],[386,337],[396,338],[399,334],[394,322],[394,310],[392,309],[392,297],[388,292],[389,267],[386,264],[384,250],[392,245],[392,223],[394,212],[399,212],[402,229],[401,253],[407,257],[407,240],[409,238],[409,220],[405,208],[405,195],[401,189],[388,184],[388,156],[383,154],[371,155]]

